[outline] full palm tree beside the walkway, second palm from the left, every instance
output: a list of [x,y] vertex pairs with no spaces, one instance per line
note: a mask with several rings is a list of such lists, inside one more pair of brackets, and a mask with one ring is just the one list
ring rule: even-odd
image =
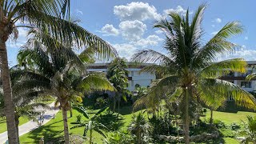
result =
[[[31,32],[31,34],[34,33]],[[38,31],[18,54],[18,56],[22,55],[23,62],[26,62],[26,59],[32,60],[33,67],[37,71],[16,71],[17,75],[22,75],[22,78],[27,79],[16,86],[27,90],[37,87],[46,94],[56,97],[55,103],[59,104],[62,109],[65,142],[69,143],[67,110],[70,110],[70,102],[82,102],[81,97],[86,91],[114,90],[114,87],[104,74],[86,72],[84,62],[90,59],[87,55],[102,54],[102,51],[88,48],[78,56],[70,46],[64,46],[47,34],[37,34]]]

